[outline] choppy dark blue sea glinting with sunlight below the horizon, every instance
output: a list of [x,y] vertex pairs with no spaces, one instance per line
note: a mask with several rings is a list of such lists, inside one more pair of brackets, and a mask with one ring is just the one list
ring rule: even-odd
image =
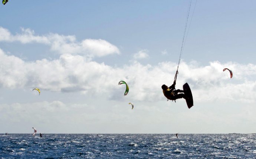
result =
[[256,134],[0,134],[1,159],[256,159]]

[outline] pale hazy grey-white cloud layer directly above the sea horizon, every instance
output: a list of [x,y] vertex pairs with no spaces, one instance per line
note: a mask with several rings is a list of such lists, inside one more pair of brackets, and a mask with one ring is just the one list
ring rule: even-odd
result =
[[131,109],[128,102],[98,101],[101,104],[95,99],[87,101],[88,104],[62,101],[0,104],[1,129],[9,133],[32,133],[32,127],[41,133],[175,133],[177,130],[182,133],[244,133],[256,130],[243,126],[244,122],[255,124],[254,105],[207,103],[187,109],[185,101],[164,100],[137,101]]

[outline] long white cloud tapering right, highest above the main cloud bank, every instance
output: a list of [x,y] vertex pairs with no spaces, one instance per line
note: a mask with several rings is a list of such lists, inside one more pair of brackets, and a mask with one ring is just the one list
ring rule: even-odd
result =
[[102,57],[109,54],[119,54],[119,49],[102,39],[85,39],[76,41],[73,35],[35,35],[35,31],[22,28],[21,34],[12,35],[6,28],[0,27],[0,41],[19,41],[23,44],[40,43],[49,45],[52,51],[59,54],[81,54],[89,57]]

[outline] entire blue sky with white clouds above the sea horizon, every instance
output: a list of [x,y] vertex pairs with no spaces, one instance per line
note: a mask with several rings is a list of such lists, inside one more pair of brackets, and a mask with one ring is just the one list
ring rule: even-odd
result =
[[192,0],[164,97],[189,4],[0,4],[0,133],[256,133],[256,1]]

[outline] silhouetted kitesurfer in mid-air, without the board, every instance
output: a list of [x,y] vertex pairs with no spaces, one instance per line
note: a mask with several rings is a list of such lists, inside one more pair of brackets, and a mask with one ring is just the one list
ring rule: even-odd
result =
[[183,90],[180,90],[180,89],[175,90],[175,84],[176,83],[173,82],[173,85],[171,85],[170,87],[167,87],[167,85],[165,85],[165,84],[162,85],[164,96],[170,100],[176,100],[179,98],[186,99],[186,95],[184,94]]

